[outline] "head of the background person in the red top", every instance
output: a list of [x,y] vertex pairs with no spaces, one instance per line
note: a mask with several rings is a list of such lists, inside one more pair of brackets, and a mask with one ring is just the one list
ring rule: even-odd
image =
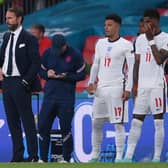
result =
[[39,40],[44,36],[45,27],[42,24],[34,24],[31,26],[30,32]]

